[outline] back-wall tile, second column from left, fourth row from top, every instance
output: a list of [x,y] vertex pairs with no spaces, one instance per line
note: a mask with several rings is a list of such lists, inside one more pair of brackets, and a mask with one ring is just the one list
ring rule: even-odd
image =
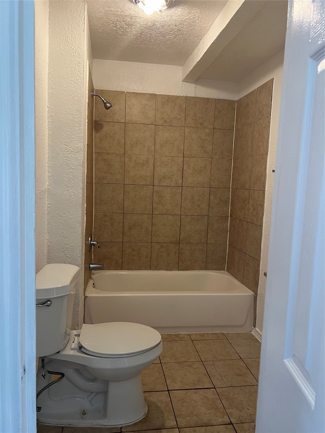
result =
[[124,185],[124,212],[126,214],[152,213],[151,185]]

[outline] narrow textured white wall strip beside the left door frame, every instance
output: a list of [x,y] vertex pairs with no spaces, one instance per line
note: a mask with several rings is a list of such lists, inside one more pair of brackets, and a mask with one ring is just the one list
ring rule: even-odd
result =
[[35,1],[36,272],[47,263],[48,0]]

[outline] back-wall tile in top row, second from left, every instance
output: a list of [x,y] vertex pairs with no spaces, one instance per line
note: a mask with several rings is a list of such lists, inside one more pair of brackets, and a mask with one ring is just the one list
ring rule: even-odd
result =
[[126,92],[125,122],[154,125],[156,95],[153,93]]

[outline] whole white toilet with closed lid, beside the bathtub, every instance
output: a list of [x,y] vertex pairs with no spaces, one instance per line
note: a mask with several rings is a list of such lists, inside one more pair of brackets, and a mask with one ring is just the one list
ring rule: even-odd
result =
[[[79,268],[47,264],[36,276],[36,350],[45,369],[37,392],[38,420],[46,424],[116,427],[147,413],[140,373],[161,353],[159,332],[129,322],[84,324],[72,331]],[[51,371],[52,373],[47,373]]]

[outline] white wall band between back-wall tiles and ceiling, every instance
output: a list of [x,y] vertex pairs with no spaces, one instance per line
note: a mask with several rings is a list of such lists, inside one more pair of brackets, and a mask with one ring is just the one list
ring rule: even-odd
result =
[[229,81],[182,82],[182,67],[168,64],[93,60],[95,89],[236,99],[238,84]]

